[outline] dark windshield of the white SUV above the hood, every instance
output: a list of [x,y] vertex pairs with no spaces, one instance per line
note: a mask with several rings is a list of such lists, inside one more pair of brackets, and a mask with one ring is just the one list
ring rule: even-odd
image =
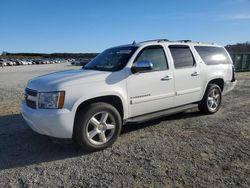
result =
[[125,67],[136,49],[137,47],[107,49],[83,68],[99,71],[119,71]]

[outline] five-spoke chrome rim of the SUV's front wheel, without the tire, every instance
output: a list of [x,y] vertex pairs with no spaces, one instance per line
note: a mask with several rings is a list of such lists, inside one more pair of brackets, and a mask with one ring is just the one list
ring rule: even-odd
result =
[[105,144],[114,135],[115,124],[115,118],[109,112],[96,113],[86,126],[88,140],[95,145]]

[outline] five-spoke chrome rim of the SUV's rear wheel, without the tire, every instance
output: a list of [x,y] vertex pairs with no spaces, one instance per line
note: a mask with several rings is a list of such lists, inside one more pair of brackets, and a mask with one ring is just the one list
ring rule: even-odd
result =
[[220,106],[221,102],[221,95],[220,91],[217,88],[212,89],[207,98],[207,106],[210,111],[216,111],[217,108]]

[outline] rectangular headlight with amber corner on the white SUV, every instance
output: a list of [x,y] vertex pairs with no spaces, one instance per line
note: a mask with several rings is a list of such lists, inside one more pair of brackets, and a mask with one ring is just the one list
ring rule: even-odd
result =
[[64,91],[46,92],[38,94],[38,108],[60,109],[63,108]]

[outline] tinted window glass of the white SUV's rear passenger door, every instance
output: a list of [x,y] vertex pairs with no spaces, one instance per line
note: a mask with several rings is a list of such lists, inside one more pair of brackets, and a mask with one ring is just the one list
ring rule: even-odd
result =
[[176,69],[192,67],[195,65],[195,60],[189,47],[170,46],[169,49],[171,51]]

